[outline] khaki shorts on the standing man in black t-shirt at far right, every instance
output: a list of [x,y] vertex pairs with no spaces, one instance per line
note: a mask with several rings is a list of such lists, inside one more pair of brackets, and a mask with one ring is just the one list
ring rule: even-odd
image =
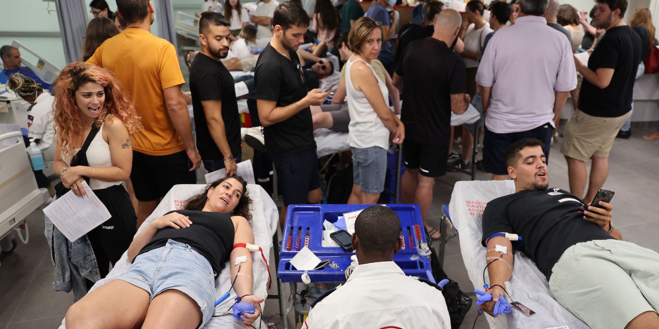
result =
[[581,161],[588,161],[592,156],[608,157],[620,127],[629,116],[631,111],[616,118],[575,111],[565,125],[561,153]]

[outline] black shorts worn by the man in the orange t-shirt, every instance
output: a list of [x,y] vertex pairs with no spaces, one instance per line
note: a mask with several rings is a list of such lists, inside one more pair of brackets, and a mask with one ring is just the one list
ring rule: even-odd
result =
[[194,171],[185,151],[169,155],[148,155],[132,151],[130,181],[139,201],[154,201],[176,184],[196,184]]

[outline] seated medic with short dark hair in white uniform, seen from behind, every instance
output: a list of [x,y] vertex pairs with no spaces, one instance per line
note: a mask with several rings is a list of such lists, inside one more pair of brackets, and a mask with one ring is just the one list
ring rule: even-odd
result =
[[359,214],[352,236],[359,265],[345,284],[312,303],[302,329],[451,328],[440,288],[406,276],[393,262],[403,243],[400,225],[387,207]]

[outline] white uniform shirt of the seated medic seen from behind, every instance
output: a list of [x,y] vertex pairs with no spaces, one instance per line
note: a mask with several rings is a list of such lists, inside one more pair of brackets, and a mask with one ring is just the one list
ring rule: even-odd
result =
[[358,265],[319,301],[302,329],[451,328],[442,291],[406,276],[391,262]]

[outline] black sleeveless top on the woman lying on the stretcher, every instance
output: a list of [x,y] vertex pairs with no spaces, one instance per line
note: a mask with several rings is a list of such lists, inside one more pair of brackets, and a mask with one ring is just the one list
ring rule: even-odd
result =
[[215,278],[217,278],[219,272],[224,268],[224,263],[229,261],[229,254],[231,253],[231,249],[233,249],[234,232],[231,216],[212,213],[210,211],[194,210],[176,210],[169,213],[173,212],[190,217],[192,225],[186,228],[173,228],[169,226],[161,228],[156,233],[156,236],[140,250],[137,256],[139,257],[139,255],[147,251],[163,247],[170,239],[180,243],[186,243],[200,253],[200,255],[208,259],[208,263],[210,263],[210,266],[215,272]]

